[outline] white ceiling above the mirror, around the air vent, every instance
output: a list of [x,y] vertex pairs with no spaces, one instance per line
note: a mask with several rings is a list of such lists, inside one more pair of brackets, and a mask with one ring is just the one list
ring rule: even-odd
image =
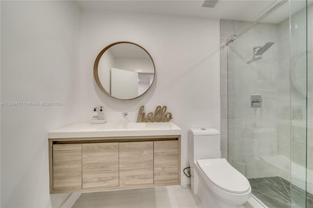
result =
[[[214,8],[203,8],[203,0],[78,0],[82,9],[174,15],[226,20],[255,20],[280,0],[220,0]],[[287,17],[289,12],[285,12]],[[287,18],[286,17],[286,18]],[[284,19],[286,19],[284,17]],[[284,20],[283,19],[283,20]],[[267,22],[278,23],[275,18]]]

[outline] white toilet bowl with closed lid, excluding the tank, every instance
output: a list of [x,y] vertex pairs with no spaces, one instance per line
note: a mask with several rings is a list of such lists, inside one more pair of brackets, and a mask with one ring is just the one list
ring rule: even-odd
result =
[[237,208],[251,197],[249,181],[225,159],[198,160],[195,172],[197,195],[205,207]]

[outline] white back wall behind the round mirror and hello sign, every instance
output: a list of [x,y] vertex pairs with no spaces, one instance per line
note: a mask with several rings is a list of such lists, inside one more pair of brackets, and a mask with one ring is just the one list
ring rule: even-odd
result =
[[[131,13],[81,13],[80,115],[88,122],[94,105],[103,104],[108,121],[122,121],[122,112],[136,121],[138,109],[154,112],[167,105],[182,129],[182,162],[188,163],[188,129],[208,126],[220,130],[219,20]],[[142,97],[121,101],[104,94],[93,78],[98,53],[113,42],[144,47],[154,59],[156,80]],[[190,181],[182,177],[182,184]]]

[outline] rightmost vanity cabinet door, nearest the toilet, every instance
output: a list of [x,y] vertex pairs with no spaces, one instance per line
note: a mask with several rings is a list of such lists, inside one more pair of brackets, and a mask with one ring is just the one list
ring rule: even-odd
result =
[[179,182],[178,141],[154,142],[154,184]]

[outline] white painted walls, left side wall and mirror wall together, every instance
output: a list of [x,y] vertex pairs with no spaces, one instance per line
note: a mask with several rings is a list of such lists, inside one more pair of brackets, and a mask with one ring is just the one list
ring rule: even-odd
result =
[[[167,105],[182,128],[182,168],[188,128],[220,129],[218,20],[84,11],[78,31],[79,18],[72,1],[1,1],[1,102],[23,104],[1,106],[1,207],[63,204],[69,194],[49,195],[47,132],[88,121],[95,104],[109,121]],[[140,44],[156,63],[156,81],[136,100],[112,99],[93,79],[97,54],[117,41]]]

